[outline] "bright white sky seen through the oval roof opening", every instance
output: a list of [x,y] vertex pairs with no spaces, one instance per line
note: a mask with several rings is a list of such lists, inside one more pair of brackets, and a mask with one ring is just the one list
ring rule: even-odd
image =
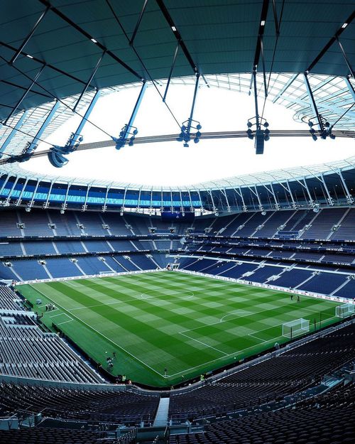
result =
[[[164,89],[161,92],[163,94]],[[167,102],[179,122],[190,115],[193,87],[171,85]],[[118,136],[131,115],[138,89],[131,88],[102,97],[97,102],[90,121],[107,133]],[[262,107],[260,101],[259,107]],[[255,115],[253,96],[244,93],[201,87],[197,97],[194,118],[204,131],[246,130],[246,121]],[[39,173],[73,176],[77,178],[115,180],[144,185],[189,185],[260,171],[305,166],[336,161],[354,155],[354,140],[307,138],[274,138],[273,129],[305,129],[305,124],[293,120],[293,112],[266,102],[264,117],[268,120],[271,139],[265,143],[264,154],[256,156],[253,141],[249,139],[201,140],[190,142],[184,148],[178,141],[114,147],[82,151],[68,155],[69,163],[54,168],[48,158],[36,158],[26,163],[26,169]],[[52,134],[48,141],[65,144],[77,129],[74,117]],[[178,133],[178,125],[153,87],[146,90],[135,126],[138,136]],[[84,143],[108,140],[102,131],[87,123],[82,131]],[[40,148],[48,149],[42,144]]]

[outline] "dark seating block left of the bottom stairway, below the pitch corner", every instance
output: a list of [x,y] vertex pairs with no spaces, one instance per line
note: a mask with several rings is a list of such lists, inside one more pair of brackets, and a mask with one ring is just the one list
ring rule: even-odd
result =
[[160,396],[129,390],[68,389],[65,387],[1,384],[0,413],[42,412],[50,418],[105,421],[136,425],[152,421]]

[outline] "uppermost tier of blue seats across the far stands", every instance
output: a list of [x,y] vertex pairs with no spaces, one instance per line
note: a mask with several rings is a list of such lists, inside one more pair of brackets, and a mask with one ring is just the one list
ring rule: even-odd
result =
[[316,214],[312,210],[288,210],[240,213],[224,217],[203,217],[195,222],[163,222],[159,218],[119,213],[75,212],[60,214],[53,210],[21,212],[2,210],[0,232],[2,236],[131,236],[170,232],[223,234],[224,236],[277,237],[277,233],[298,233],[300,239],[355,239],[355,210],[329,208]]

